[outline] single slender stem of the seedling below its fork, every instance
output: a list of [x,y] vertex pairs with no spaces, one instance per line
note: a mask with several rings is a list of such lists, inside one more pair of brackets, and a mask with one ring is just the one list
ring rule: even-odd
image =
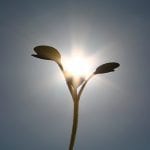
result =
[[73,125],[72,125],[72,133],[70,138],[70,145],[69,150],[73,150],[75,139],[76,139],[76,133],[78,128],[78,114],[79,114],[79,101],[74,101],[74,112],[73,112]]

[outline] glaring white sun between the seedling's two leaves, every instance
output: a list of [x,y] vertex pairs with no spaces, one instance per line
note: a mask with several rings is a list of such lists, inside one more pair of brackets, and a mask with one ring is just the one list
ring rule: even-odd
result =
[[65,56],[63,65],[65,70],[75,77],[87,77],[91,73],[90,59],[79,51],[76,51],[76,54]]

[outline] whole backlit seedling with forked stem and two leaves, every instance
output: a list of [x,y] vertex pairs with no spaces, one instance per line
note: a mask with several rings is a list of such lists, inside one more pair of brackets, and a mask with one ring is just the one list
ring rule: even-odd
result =
[[[50,46],[41,45],[35,47],[34,51],[36,54],[32,54],[32,56],[36,58],[52,60],[56,62],[59,68],[61,69],[61,72],[63,73],[64,78],[66,80],[66,84],[68,86],[68,89],[70,91],[74,103],[73,125],[72,125],[72,132],[71,132],[71,138],[69,144],[69,150],[73,150],[75,139],[76,139],[77,127],[78,127],[79,100],[85,88],[85,85],[94,75],[113,72],[115,71],[114,70],[115,68],[120,66],[120,64],[116,62],[109,62],[100,65],[87,79],[85,79],[84,77],[76,77],[64,69],[61,62],[61,55],[57,49]],[[77,90],[79,87],[80,89]]]

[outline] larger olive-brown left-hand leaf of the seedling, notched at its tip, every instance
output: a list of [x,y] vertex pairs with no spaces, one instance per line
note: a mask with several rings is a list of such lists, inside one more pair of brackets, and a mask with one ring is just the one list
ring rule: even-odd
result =
[[34,48],[34,51],[36,52],[36,54],[32,54],[32,56],[36,58],[53,60],[58,64],[61,63],[61,55],[58,52],[58,50],[55,49],[54,47],[41,45],[41,46],[36,46]]

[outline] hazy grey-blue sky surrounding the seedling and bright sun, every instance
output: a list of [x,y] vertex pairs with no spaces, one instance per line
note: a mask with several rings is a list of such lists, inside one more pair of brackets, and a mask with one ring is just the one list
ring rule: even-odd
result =
[[76,150],[150,149],[150,2],[1,0],[1,150],[68,149],[71,96],[56,64],[30,56],[43,44],[121,64],[87,85]]

